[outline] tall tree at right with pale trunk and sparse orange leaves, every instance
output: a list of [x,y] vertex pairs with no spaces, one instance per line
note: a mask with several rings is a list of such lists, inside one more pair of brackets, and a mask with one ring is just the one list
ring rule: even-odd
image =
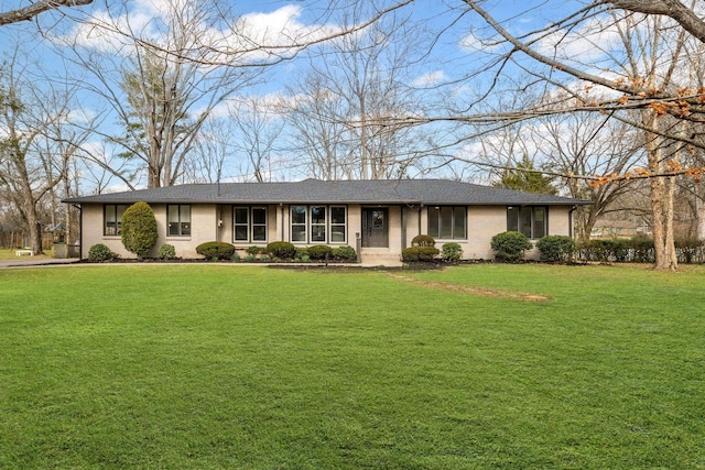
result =
[[[571,175],[605,184],[614,179],[648,178],[651,185],[652,222],[657,247],[655,267],[677,266],[673,243],[673,188],[677,175],[698,177],[705,168],[688,168],[680,163],[677,145],[705,149],[705,140],[685,132],[683,121],[705,118],[705,88],[694,86],[681,70],[699,61],[687,45],[702,42],[697,28],[703,20],[697,3],[679,3],[674,9],[652,9],[672,3],[670,0],[596,1],[566,11],[555,8],[547,14],[560,18],[540,30],[512,33],[511,18],[500,18],[484,1],[463,0],[467,9],[458,12],[480,19],[488,30],[482,47],[484,58],[467,77],[486,85],[480,98],[456,109],[449,116],[406,119],[408,123],[438,121],[466,122],[484,127],[463,139],[474,139],[509,123],[547,114],[599,112],[627,122],[641,131],[641,145],[648,156],[647,166],[633,173],[615,175]],[[556,3],[557,7],[557,3]],[[540,7],[530,7],[539,9]],[[570,7],[568,7],[570,8]],[[628,8],[629,10],[622,10]],[[647,14],[634,13],[639,9]],[[687,10],[687,11],[686,11]],[[546,12],[545,10],[542,10]],[[699,11],[699,10],[697,10]],[[561,13],[562,12],[562,13]],[[688,13],[690,12],[690,13]],[[682,14],[683,13],[683,14]],[[690,23],[688,21],[694,20]],[[687,24],[686,24],[687,23]],[[544,23],[545,24],[545,23]],[[476,24],[475,31],[481,26]],[[516,29],[514,29],[516,30]],[[581,45],[583,53],[576,53]],[[694,51],[691,47],[690,51]],[[524,77],[518,80],[517,77]],[[479,78],[485,77],[484,80]],[[474,112],[484,99],[492,99],[509,86],[539,91],[541,105],[507,109],[500,112]],[[561,90],[561,94],[556,94]],[[595,91],[599,91],[597,95]],[[567,99],[566,99],[567,97]],[[572,106],[566,106],[568,102]],[[566,175],[568,176],[568,175]]]

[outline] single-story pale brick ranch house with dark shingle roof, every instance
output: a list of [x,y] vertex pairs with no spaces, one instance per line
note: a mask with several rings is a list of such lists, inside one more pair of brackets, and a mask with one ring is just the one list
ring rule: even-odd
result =
[[140,200],[156,216],[153,254],[164,243],[188,259],[200,258],[196,247],[207,241],[238,250],[289,241],[348,244],[362,262],[379,264],[398,262],[417,234],[434,237],[436,248],[459,243],[465,259],[494,259],[495,234],[572,236],[574,209],[590,204],[444,179],[188,184],[66,199],[80,207],[80,258],[96,243],[133,258],[122,247],[120,220]]

